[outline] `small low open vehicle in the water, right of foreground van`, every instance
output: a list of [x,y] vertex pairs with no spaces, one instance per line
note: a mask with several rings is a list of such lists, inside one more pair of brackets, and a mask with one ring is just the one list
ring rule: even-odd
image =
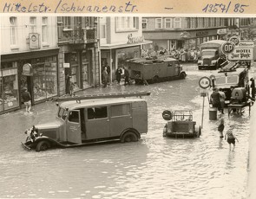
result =
[[196,126],[192,111],[164,111],[162,118],[167,120],[163,129],[163,137],[199,138],[200,125]]

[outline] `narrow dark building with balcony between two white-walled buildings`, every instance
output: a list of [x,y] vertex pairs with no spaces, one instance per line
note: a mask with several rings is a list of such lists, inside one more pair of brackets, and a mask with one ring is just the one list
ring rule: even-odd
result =
[[97,18],[58,16],[57,29],[60,95],[99,85]]

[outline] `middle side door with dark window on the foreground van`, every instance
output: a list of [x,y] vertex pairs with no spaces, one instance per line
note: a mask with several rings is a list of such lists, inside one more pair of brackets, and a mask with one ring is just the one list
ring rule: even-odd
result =
[[108,106],[91,107],[87,109],[86,138],[108,138],[109,118]]

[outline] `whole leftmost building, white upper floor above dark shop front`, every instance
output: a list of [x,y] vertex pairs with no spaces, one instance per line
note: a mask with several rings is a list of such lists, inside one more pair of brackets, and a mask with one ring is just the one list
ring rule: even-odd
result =
[[1,16],[0,113],[58,94],[56,17]]

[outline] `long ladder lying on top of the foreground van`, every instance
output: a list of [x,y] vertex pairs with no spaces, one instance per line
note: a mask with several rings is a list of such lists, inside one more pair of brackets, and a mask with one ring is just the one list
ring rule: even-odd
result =
[[126,92],[126,93],[108,93],[108,94],[89,94],[78,97],[68,97],[68,98],[53,98],[54,101],[70,101],[76,100],[76,102],[80,103],[82,99],[107,99],[107,98],[126,98],[126,97],[140,97],[148,96],[150,92]]

